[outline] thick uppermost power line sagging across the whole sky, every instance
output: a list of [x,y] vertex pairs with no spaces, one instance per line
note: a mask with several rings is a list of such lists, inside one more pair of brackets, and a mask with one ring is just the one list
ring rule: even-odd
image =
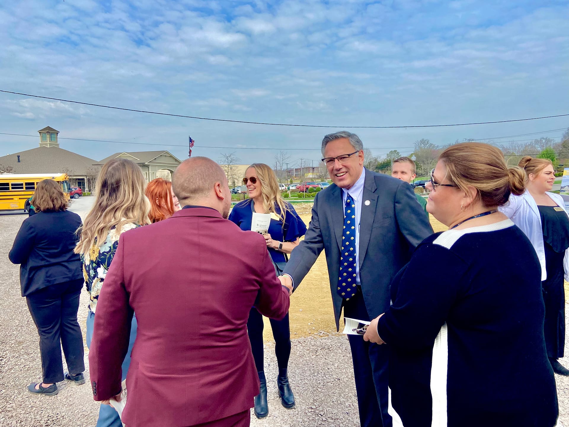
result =
[[121,108],[121,107],[110,106],[110,105],[92,104],[92,103],[90,103],[90,102],[71,101],[71,100],[65,100],[65,99],[61,99],[61,98],[52,98],[52,97],[48,97],[48,96],[30,95],[30,94],[28,94],[28,93],[3,91],[2,89],[0,89],[0,92],[12,93],[13,95],[22,95],[22,96],[28,96],[28,97],[33,97],[33,98],[48,99],[48,100],[52,100],[52,101],[72,102],[73,104],[98,106],[98,107],[102,107],[102,108],[111,108],[111,109],[114,109],[114,110],[131,111],[131,112],[135,112],[135,113],[158,114],[159,116],[195,118],[196,120],[211,120],[211,121],[218,121],[218,122],[245,123],[245,124],[250,124],[250,125],[296,126],[296,127],[301,127],[301,128],[342,128],[342,129],[446,128],[446,127],[448,127],[448,126],[489,125],[489,124],[495,124],[495,123],[522,122],[522,121],[528,121],[528,120],[540,120],[540,119],[542,119],[542,118],[554,118],[554,117],[566,117],[566,116],[569,116],[569,114],[557,114],[556,116],[543,116],[543,117],[532,117],[532,118],[518,118],[518,119],[515,119],[515,120],[498,120],[498,121],[492,121],[492,122],[457,123],[457,124],[450,124],[450,125],[409,125],[409,126],[323,126],[323,125],[297,125],[297,124],[287,124],[287,123],[266,123],[266,122],[253,122],[253,121],[245,121],[245,120],[229,120],[229,119],[225,119],[225,118],[208,118],[208,117],[197,117],[197,116],[184,116],[183,114],[170,114],[170,113],[159,113],[159,112],[146,111],[146,110],[135,110],[135,109],[131,109],[131,108]]

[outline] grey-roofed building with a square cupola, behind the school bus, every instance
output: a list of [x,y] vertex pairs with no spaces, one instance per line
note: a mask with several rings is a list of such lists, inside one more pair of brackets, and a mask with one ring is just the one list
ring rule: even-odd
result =
[[[0,157],[0,171],[13,174],[43,174],[60,172],[69,175],[69,184],[83,191],[93,191],[100,166],[96,160],[59,147],[59,131],[43,128],[39,132],[39,147]],[[1,173],[0,172],[0,173]]]

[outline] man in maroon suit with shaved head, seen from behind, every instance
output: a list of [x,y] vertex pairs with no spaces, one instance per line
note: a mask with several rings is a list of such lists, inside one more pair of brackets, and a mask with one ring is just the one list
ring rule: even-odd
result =
[[94,399],[121,392],[134,312],[127,426],[249,426],[259,392],[249,310],[282,319],[288,290],[263,236],[226,220],[231,194],[217,163],[187,159],[172,184],[184,208],[123,233],[106,274],[89,354]]

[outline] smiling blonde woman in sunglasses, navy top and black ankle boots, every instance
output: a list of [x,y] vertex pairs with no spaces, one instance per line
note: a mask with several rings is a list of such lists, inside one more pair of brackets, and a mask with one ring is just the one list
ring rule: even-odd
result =
[[[279,191],[277,176],[270,166],[264,163],[253,163],[245,171],[243,184],[247,186],[249,199],[238,203],[233,208],[229,214],[229,220],[236,223],[242,230],[250,230],[253,212],[271,214],[265,241],[275,266],[275,272],[279,276],[287,261],[285,254],[291,253],[292,249],[299,244],[300,237],[306,233],[306,225],[292,205],[284,202],[281,191]],[[271,328],[279,367],[277,385],[281,403],[284,408],[294,408],[295,400],[288,383],[287,373],[291,350],[288,313],[281,321],[271,319]],[[269,414],[269,405],[265,368],[263,367],[263,317],[255,307],[252,307],[249,313],[247,330],[259,381],[261,381],[259,395],[255,396],[255,416],[265,418]]]

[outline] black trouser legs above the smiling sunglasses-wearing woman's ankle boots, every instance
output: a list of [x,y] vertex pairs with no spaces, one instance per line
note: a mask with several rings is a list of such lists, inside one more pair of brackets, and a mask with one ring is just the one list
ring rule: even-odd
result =
[[[275,339],[275,356],[279,369],[287,369],[288,358],[290,358],[290,325],[288,323],[288,313],[280,321],[270,319],[273,337]],[[253,307],[249,311],[247,321],[247,333],[253,350],[253,358],[257,371],[264,371],[263,366],[263,316]]]

